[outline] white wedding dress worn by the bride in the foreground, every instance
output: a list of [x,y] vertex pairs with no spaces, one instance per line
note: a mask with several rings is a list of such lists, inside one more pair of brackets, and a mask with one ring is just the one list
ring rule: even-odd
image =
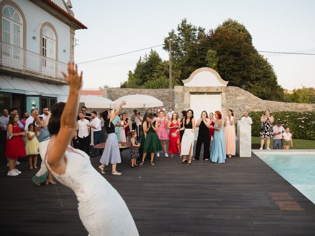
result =
[[68,147],[67,166],[63,175],[49,171],[71,188],[78,199],[80,219],[90,236],[139,236],[125,201],[115,188],[91,165],[89,156]]

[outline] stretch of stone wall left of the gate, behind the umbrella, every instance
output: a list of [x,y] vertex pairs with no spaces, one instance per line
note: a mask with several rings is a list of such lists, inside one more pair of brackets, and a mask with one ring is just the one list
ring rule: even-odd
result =
[[[163,102],[166,109],[172,108],[174,110],[174,89],[103,89],[103,96],[113,101],[122,96],[131,94],[144,94],[156,97],[158,100]],[[122,112],[126,112],[127,116],[130,116],[133,113],[133,110],[133,108],[123,108]],[[141,116],[143,116],[144,112],[146,112],[148,108],[141,108],[138,110],[141,113]]]

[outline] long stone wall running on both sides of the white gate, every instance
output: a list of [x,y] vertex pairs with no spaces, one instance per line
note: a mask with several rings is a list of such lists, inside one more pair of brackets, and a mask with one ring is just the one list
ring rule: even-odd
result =
[[[222,112],[226,114],[227,109],[232,109],[237,119],[241,118],[245,110],[262,111],[269,109],[273,111],[315,111],[315,104],[287,103],[262,100],[252,93],[238,87],[184,87],[175,86],[174,89],[120,89],[107,88],[103,90],[105,97],[115,100],[129,94],[151,95],[164,103],[166,109],[173,108],[175,111],[188,110],[190,106],[190,92],[221,92]],[[141,114],[147,109],[139,109]],[[131,115],[133,108],[122,109],[127,115]]]

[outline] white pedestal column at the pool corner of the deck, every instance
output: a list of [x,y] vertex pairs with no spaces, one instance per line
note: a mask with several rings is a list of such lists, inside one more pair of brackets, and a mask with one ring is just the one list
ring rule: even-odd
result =
[[237,121],[238,154],[240,157],[252,156],[252,126],[249,121]]

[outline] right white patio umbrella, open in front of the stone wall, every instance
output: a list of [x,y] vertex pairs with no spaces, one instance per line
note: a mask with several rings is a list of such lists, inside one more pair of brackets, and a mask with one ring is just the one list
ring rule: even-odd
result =
[[[124,105],[124,108],[146,108],[163,106],[163,102],[158,100],[158,98],[144,94],[132,94],[122,96],[114,100],[113,103],[120,104],[124,100],[126,101],[126,105]],[[139,134],[139,125],[137,125],[137,129],[137,134]]]

